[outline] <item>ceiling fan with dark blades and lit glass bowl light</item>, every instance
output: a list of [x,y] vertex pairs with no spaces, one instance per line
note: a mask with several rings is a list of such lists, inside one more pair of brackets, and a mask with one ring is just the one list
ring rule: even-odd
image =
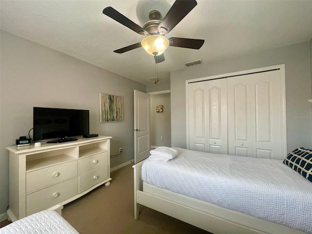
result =
[[128,19],[113,7],[104,8],[103,14],[130,28],[136,33],[145,36],[145,38],[136,44],[115,50],[115,53],[122,54],[124,52],[143,47],[147,53],[153,55],[155,62],[159,63],[165,60],[163,52],[168,46],[183,47],[189,49],[199,49],[205,40],[189,39],[189,38],[169,38],[164,35],[169,33],[191,10],[197,5],[195,0],[176,0],[171,6],[166,16],[160,21],[160,12],[151,11],[149,13],[149,21],[143,27],[137,25]]

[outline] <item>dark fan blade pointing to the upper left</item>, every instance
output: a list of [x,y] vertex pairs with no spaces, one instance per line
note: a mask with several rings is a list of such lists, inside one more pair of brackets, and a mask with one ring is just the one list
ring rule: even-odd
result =
[[112,18],[113,20],[116,20],[117,22],[119,22],[122,25],[130,28],[131,30],[135,31],[138,34],[141,34],[141,35],[148,34],[141,26],[137,25],[132,20],[129,20],[127,17],[125,17],[124,15],[119,13],[117,10],[115,10],[111,6],[104,8],[103,14],[107,15],[108,17]]

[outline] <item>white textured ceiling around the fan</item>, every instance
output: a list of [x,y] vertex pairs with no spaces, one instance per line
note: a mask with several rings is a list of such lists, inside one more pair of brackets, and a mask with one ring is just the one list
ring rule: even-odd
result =
[[[121,76],[151,84],[155,60],[142,48],[113,51],[143,39],[102,14],[112,6],[142,26],[148,13],[164,16],[174,0],[0,0],[1,29]],[[158,64],[160,82],[185,63],[233,58],[309,41],[312,0],[197,0],[197,6],[166,35],[205,39],[199,50],[169,47]],[[200,66],[200,65],[198,65]]]

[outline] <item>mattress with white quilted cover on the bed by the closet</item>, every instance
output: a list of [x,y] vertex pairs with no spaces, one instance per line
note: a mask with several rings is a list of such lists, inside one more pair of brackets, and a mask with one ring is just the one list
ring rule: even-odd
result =
[[147,158],[142,180],[312,234],[312,183],[282,160],[175,149],[168,162]]

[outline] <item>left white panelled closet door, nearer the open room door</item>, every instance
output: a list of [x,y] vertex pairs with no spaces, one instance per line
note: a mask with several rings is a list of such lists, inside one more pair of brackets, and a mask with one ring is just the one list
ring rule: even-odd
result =
[[189,148],[228,153],[227,82],[225,79],[188,84]]

